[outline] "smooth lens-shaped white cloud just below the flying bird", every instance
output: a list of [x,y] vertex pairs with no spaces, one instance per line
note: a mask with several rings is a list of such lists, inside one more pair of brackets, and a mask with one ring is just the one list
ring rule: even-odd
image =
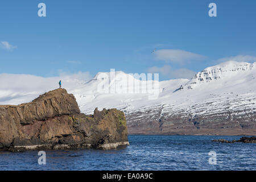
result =
[[198,55],[196,53],[183,51],[180,49],[161,49],[155,51],[155,59],[156,60],[163,60],[166,62],[172,63],[186,63],[192,60],[201,60],[204,59],[205,56]]

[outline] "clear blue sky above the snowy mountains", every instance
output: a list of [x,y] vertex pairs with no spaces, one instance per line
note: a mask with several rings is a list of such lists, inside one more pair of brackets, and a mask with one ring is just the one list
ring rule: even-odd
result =
[[[46,17],[38,16],[41,2]],[[208,15],[211,2],[217,17]],[[229,57],[253,61],[255,8],[254,0],[2,0],[0,73],[94,76],[115,68],[166,80]]]

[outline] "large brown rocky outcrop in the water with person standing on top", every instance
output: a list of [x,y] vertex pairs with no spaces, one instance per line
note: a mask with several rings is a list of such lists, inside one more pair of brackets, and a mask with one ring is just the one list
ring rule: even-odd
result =
[[104,109],[80,113],[72,94],[56,89],[30,103],[0,106],[0,150],[109,150],[129,144],[125,114]]

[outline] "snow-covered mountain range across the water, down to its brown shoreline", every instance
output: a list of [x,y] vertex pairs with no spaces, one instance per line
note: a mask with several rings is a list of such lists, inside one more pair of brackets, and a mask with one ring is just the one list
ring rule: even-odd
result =
[[[69,79],[64,88],[84,113],[95,107],[123,110],[129,133],[256,134],[256,62],[228,61],[191,80],[142,81],[120,71],[112,74],[98,73],[87,82]],[[0,104],[29,102],[39,94],[20,91],[0,87]],[[150,99],[154,93],[158,97]]]

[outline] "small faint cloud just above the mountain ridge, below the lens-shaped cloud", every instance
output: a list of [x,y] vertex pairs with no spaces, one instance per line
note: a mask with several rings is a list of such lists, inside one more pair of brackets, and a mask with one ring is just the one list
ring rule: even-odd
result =
[[163,76],[168,76],[169,78],[192,78],[196,72],[187,69],[173,69],[170,65],[164,65],[163,67],[151,67],[147,70],[149,73],[160,73]]

